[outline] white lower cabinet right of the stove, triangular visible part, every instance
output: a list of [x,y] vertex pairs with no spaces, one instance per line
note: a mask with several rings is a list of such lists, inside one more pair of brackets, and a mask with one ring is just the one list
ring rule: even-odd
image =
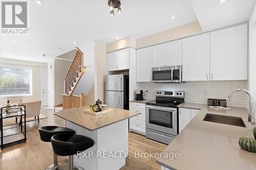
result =
[[179,133],[197,115],[198,109],[179,108]]

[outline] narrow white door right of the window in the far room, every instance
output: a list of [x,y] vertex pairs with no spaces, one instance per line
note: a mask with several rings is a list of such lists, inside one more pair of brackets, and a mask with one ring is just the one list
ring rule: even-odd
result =
[[48,106],[48,69],[41,67],[41,106]]

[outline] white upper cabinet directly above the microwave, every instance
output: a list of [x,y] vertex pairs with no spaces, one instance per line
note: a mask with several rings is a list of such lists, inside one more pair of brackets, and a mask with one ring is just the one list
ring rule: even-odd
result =
[[182,40],[153,46],[153,67],[182,64]]

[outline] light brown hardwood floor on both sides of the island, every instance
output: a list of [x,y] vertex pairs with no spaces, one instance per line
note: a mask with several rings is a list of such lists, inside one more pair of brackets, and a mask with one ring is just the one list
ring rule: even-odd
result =
[[[0,150],[0,169],[45,169],[52,164],[53,151],[50,142],[40,140],[38,128],[41,126],[65,126],[65,120],[55,116],[53,111],[41,109],[48,118],[27,123],[27,142],[12,148]],[[135,158],[135,151],[161,153],[166,144],[147,139],[137,133],[129,133],[129,156],[121,170],[159,170],[160,165],[153,158]],[[63,159],[63,158],[61,158]]]

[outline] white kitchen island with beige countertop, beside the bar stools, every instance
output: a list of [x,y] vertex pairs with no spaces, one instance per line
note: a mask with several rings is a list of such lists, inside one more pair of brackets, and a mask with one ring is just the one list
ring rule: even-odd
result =
[[128,156],[128,118],[138,112],[113,108],[112,113],[84,113],[88,106],[54,113],[66,120],[66,127],[94,140],[94,146],[74,156],[74,165],[90,170],[118,170]]

